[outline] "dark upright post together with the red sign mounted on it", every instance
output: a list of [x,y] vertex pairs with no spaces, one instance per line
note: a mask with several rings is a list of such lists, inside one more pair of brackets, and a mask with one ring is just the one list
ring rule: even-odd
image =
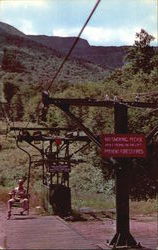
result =
[[[128,137],[128,117],[127,106],[123,104],[115,104],[114,106],[114,120],[115,120],[115,134],[106,138],[104,143],[109,146],[104,148],[105,157],[116,157],[118,166],[115,171],[116,182],[116,234],[110,242],[114,247],[135,247],[137,242],[130,233],[129,225],[129,161],[127,156],[131,157],[133,154],[143,155],[142,139],[141,145],[137,144],[138,151],[135,150],[132,144],[132,136]],[[125,144],[126,143],[126,144]],[[136,142],[135,142],[136,143]],[[109,145],[108,145],[109,144]],[[123,147],[124,145],[124,147]],[[114,148],[113,148],[114,147]],[[126,157],[126,158],[125,158]]]

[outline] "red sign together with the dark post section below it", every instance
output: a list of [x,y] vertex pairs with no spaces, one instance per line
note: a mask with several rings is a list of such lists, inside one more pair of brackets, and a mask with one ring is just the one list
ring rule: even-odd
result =
[[[119,132],[117,127],[116,132]],[[102,156],[117,158],[118,162],[115,172],[117,232],[110,244],[135,246],[136,241],[130,234],[129,226],[129,161],[127,158],[146,157],[145,137],[140,134],[105,134],[102,137]]]

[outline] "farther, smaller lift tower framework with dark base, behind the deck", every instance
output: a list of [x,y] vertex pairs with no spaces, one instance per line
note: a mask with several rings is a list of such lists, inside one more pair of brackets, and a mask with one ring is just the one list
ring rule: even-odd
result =
[[[19,131],[16,145],[27,154],[29,160],[26,185],[28,202],[30,202],[29,183],[31,170],[41,168],[43,190],[47,190],[47,197],[49,197],[47,202],[50,203],[54,212],[58,211],[59,214],[68,214],[71,210],[71,189],[69,187],[71,167],[81,162],[74,157],[78,152],[87,148],[90,140],[87,136],[80,134],[80,131],[74,132],[74,129],[72,135],[65,134],[64,131],[68,133],[70,132],[70,128],[14,127],[12,129]],[[42,130],[47,131],[47,133],[43,133]],[[56,135],[56,131],[58,135]],[[23,147],[23,142],[32,147],[32,149],[35,149],[36,152],[30,152],[27,148]],[[82,142],[84,145],[82,144],[77,150],[74,150],[71,145],[76,142]],[[21,207],[21,202],[14,202],[12,207]],[[62,211],[60,211],[60,207],[63,208]]]

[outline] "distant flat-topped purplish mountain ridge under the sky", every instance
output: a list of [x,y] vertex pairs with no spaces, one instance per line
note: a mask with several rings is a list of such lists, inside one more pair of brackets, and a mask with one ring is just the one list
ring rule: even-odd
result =
[[[29,35],[29,38],[67,54],[75,41],[75,37],[56,37],[43,35]],[[72,51],[71,57],[88,60],[104,68],[114,69],[122,67],[127,46],[90,46],[85,39],[79,39]]]

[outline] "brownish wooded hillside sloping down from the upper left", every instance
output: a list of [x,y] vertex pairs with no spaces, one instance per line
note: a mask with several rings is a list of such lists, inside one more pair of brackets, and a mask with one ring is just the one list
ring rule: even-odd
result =
[[[74,39],[67,39],[67,48]],[[58,38],[56,44],[59,40],[62,41]],[[65,58],[62,50],[57,50],[56,47],[54,49],[50,44],[46,41],[41,42],[40,39],[36,41],[14,27],[0,22],[0,81],[12,81],[20,85],[43,85],[50,82]],[[77,48],[84,47],[84,44],[88,42],[80,39]],[[86,58],[70,57],[56,82],[64,84],[100,82],[107,77],[107,74],[107,68],[94,64]]]

